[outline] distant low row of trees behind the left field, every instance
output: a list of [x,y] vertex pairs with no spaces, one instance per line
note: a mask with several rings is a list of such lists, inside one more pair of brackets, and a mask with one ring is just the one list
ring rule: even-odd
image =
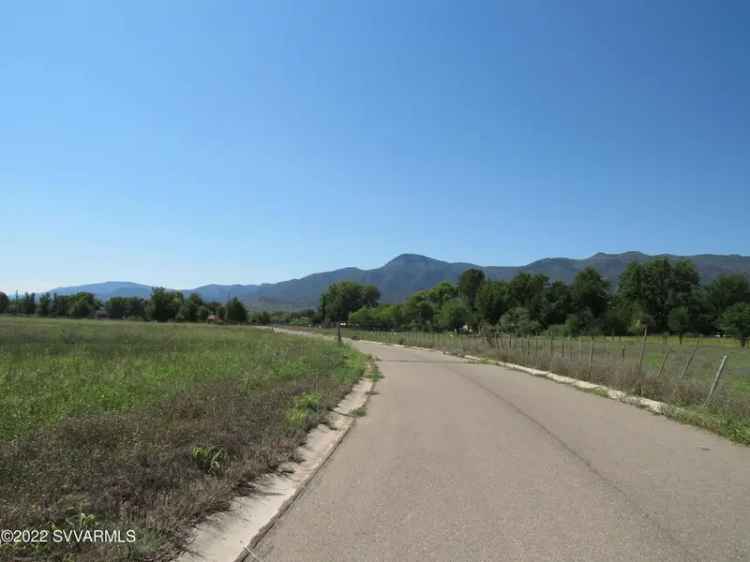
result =
[[0,314],[25,314],[51,318],[111,318],[157,322],[230,322],[270,324],[266,311],[250,311],[237,298],[226,303],[206,302],[200,295],[184,295],[163,287],[154,288],[147,299],[112,297],[105,302],[92,293],[73,295],[24,293],[15,299],[0,292]]

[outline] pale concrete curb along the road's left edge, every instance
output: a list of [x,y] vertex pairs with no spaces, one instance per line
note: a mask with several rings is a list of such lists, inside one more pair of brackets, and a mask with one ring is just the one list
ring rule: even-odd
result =
[[368,373],[352,388],[329,414],[333,429],[319,425],[312,429],[305,443],[297,448],[300,462],[288,462],[279,470],[253,481],[256,493],[232,501],[229,511],[209,516],[193,530],[190,550],[178,562],[244,562],[258,560],[253,548],[270,531],[279,518],[294,504],[310,481],[354,426],[352,412],[367,404],[375,380]]

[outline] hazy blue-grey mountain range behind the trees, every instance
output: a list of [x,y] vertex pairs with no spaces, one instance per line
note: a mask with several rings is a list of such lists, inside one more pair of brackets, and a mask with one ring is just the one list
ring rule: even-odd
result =
[[[324,273],[314,273],[301,279],[291,279],[280,283],[262,285],[204,285],[195,289],[185,289],[183,293],[198,293],[209,301],[225,302],[237,297],[248,305],[262,309],[300,309],[316,307],[320,294],[331,283],[356,281],[377,286],[386,303],[401,302],[409,295],[422,289],[434,287],[441,281],[456,282],[461,273],[470,267],[482,269],[491,279],[508,280],[522,271],[542,273],[553,281],[570,283],[576,273],[586,267],[593,267],[613,284],[630,262],[644,262],[656,257],[671,260],[687,258],[695,263],[703,283],[714,280],[722,273],[743,273],[750,277],[750,257],[738,255],[702,254],[697,256],[675,256],[660,254],[649,256],[640,252],[623,254],[598,253],[585,259],[545,258],[524,266],[478,266],[471,263],[450,263],[416,254],[402,254],[376,269],[347,267]],[[62,287],[50,292],[71,294],[89,291],[106,300],[113,296],[147,297],[151,287],[138,283],[114,282]]]

